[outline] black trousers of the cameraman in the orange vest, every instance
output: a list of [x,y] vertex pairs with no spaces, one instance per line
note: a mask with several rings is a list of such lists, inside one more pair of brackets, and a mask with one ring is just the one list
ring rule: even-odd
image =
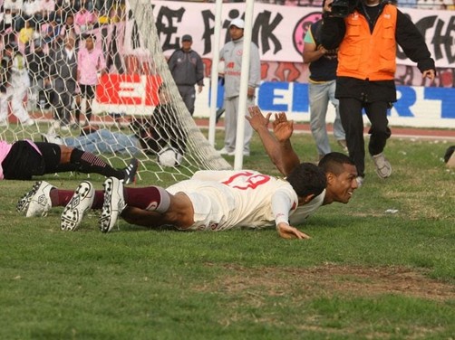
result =
[[388,127],[387,110],[390,103],[387,101],[364,102],[361,99],[340,98],[340,117],[349,156],[353,159],[360,176],[365,175],[365,146],[363,140],[363,109],[370,120],[371,127],[368,133],[370,141],[368,152],[371,156],[381,154],[387,139],[391,137]]

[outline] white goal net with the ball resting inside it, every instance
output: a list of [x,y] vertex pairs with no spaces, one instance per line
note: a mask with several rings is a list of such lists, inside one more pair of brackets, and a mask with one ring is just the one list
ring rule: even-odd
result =
[[[199,169],[231,167],[179,96],[150,0],[93,0],[83,8],[60,1],[41,12],[28,3],[20,11],[3,8],[2,139],[75,146],[116,167],[136,157],[139,179],[150,173],[178,181]],[[74,81],[74,62],[81,69],[87,58],[95,58],[95,70],[78,70]]]

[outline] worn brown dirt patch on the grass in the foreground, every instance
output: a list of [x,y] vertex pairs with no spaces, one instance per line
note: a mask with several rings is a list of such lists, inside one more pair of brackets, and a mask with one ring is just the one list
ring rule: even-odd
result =
[[211,282],[218,289],[260,291],[267,295],[285,295],[289,289],[302,289],[305,296],[350,295],[357,297],[402,294],[433,300],[455,299],[455,285],[428,278],[424,272],[404,267],[352,267],[327,264],[309,269],[246,268],[226,265],[226,275]]

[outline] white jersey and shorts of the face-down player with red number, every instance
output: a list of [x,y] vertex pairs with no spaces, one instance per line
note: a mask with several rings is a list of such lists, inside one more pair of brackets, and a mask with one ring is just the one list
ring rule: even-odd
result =
[[194,208],[193,230],[264,228],[275,225],[276,220],[287,221],[297,208],[298,197],[291,184],[256,171],[203,171],[193,178],[167,189],[170,194],[189,196]]

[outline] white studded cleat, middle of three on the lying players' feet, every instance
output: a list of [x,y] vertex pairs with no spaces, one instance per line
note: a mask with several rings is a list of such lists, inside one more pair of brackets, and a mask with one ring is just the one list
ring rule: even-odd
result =
[[92,208],[94,198],[95,189],[92,183],[83,181],[79,184],[71,201],[63,209],[60,228],[63,231],[75,231],[82,222],[83,214]]

